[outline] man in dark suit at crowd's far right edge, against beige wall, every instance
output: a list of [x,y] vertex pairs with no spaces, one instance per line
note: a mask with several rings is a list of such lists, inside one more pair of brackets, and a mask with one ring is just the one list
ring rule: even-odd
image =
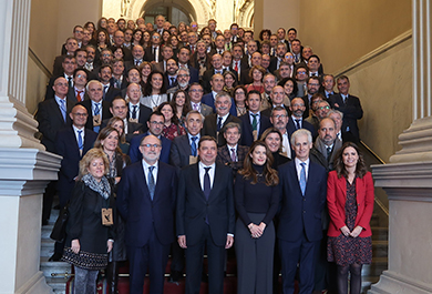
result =
[[360,99],[350,95],[350,81],[347,75],[341,75],[337,80],[339,94],[331,95],[329,103],[331,108],[343,113],[342,136],[343,142],[360,141],[359,126],[357,121],[363,118],[363,109],[360,104]]

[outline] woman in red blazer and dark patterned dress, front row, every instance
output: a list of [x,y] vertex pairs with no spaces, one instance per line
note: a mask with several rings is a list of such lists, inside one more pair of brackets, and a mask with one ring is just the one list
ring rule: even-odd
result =
[[348,294],[348,272],[350,293],[360,294],[361,267],[372,261],[373,180],[354,143],[342,145],[335,166],[327,183],[330,213],[327,258],[338,265],[339,294]]

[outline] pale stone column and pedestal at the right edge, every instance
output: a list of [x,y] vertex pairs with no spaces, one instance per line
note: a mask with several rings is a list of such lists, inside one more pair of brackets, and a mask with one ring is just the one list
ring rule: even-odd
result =
[[368,293],[432,293],[431,1],[412,4],[414,121],[399,135],[402,150],[390,164],[372,166],[389,196],[389,270]]

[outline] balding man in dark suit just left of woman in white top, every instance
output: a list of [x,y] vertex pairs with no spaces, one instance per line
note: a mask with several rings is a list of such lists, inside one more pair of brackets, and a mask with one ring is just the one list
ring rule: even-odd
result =
[[130,83],[130,85],[127,85],[126,94],[128,98],[127,120],[141,123],[143,125],[142,131],[146,132],[148,130],[147,121],[150,119],[150,114],[152,114],[152,109],[140,103],[142,95],[140,84]]

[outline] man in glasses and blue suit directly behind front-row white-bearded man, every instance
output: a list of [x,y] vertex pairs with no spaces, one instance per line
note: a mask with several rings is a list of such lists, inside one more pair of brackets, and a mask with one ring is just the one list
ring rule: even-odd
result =
[[161,135],[162,131],[164,130],[164,123],[165,123],[165,119],[161,112],[154,111],[150,115],[150,119],[147,121],[148,131],[143,133],[143,134],[135,135],[131,140],[128,155],[130,155],[132,162],[137,162],[141,160],[141,153],[140,153],[141,140],[144,136],[153,134],[154,136],[157,136],[157,139],[161,140],[162,150],[161,150],[160,160],[162,162],[169,163],[171,141],[168,139],[166,139],[165,136]]

